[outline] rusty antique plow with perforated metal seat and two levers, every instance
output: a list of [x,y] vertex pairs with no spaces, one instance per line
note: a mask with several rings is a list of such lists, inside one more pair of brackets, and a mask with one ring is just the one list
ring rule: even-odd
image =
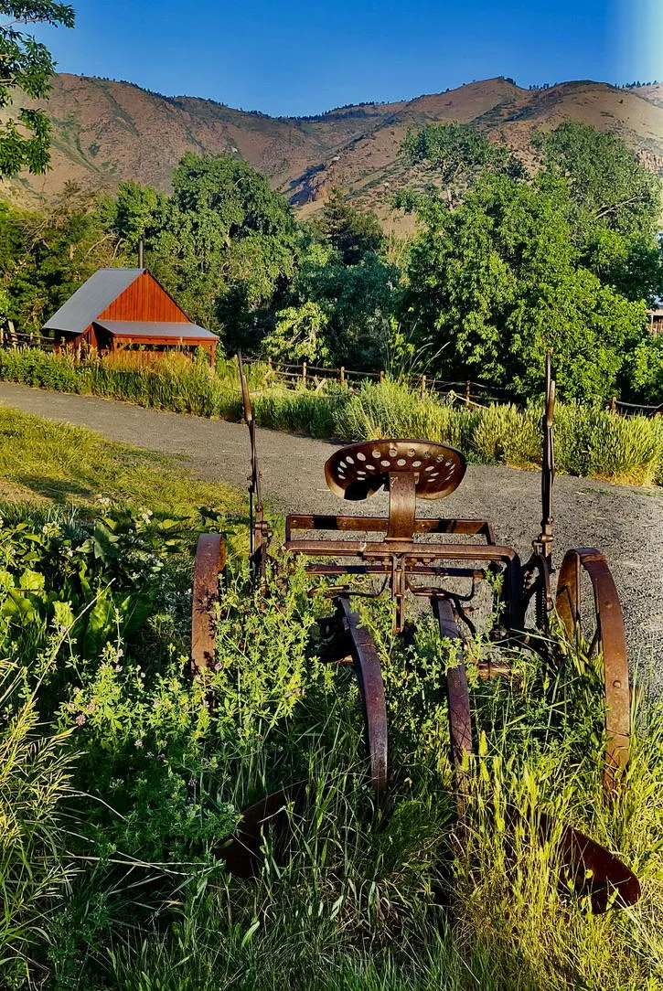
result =
[[[255,581],[269,588],[271,533],[263,515],[255,421],[241,358],[239,371],[251,439],[251,567]],[[607,713],[604,781],[608,793],[619,785],[628,761],[628,665],[621,607],[606,558],[594,548],[569,550],[553,591],[554,403],[555,383],[548,356],[542,417],[541,532],[532,542],[532,554],[524,564],[513,548],[497,543],[488,520],[417,516],[418,499],[430,501],[450,495],[461,485],[466,473],[465,458],[460,451],[432,441],[366,441],[337,450],[328,459],[324,466],[325,480],[335,495],[347,501],[362,501],[385,491],[389,499],[387,516],[291,513],[285,518],[282,551],[300,558],[305,572],[312,580],[323,582],[326,594],[335,603],[331,646],[324,659],[350,660],[354,666],[364,716],[368,778],[378,804],[384,799],[388,782],[387,706],[376,645],[353,607],[353,598],[360,594],[358,579],[371,580],[377,589],[375,593],[363,591],[361,595],[389,596],[395,634],[408,635],[405,604],[407,600],[419,600],[432,609],[442,637],[456,643],[456,664],[447,672],[446,692],[450,757],[456,769],[460,816],[465,807],[466,772],[474,754],[465,640],[467,632],[474,633],[475,627],[467,600],[482,583],[496,575],[501,579],[492,583],[498,590],[495,605],[499,619],[492,631],[496,648],[524,645],[543,649],[546,663],[555,663],[549,650],[541,645],[547,642],[545,634],[556,610],[568,637],[583,646],[589,655],[603,658]],[[194,620],[197,618],[193,628],[194,672],[204,664],[209,665],[213,657],[213,631],[205,626],[204,604],[213,601],[214,595],[218,597],[218,570],[214,572],[224,561],[223,555],[216,556],[215,543],[203,541],[201,538],[196,557],[196,576],[200,573],[202,577],[198,585],[194,582]],[[470,581],[471,596],[461,596],[450,588],[458,579]],[[593,595],[589,631],[582,629],[581,622],[584,580]],[[526,625],[532,605],[533,630]],[[479,674],[497,677],[508,675],[509,669],[506,664],[485,663],[480,665]],[[252,842],[255,846],[263,822],[261,810],[270,809],[272,814],[275,801],[270,797],[248,811],[245,824],[252,824],[253,840],[247,834],[242,849],[252,848]],[[548,821],[542,823],[546,831],[550,826]],[[241,861],[237,841],[231,849],[233,858]],[[632,904],[639,897],[639,885],[631,871],[605,847],[572,826],[566,826],[562,832],[560,852],[576,879],[577,890],[589,894],[595,911],[604,911],[614,892],[622,905]]]

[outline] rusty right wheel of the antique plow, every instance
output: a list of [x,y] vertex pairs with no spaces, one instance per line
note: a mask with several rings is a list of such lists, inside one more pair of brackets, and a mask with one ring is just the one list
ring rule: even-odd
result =
[[604,658],[606,696],[606,770],[608,791],[628,763],[630,736],[630,691],[623,613],[605,556],[594,547],[567,552],[557,582],[557,612],[569,637],[581,628],[581,576],[585,571],[592,583],[597,616],[591,651],[599,647]]

